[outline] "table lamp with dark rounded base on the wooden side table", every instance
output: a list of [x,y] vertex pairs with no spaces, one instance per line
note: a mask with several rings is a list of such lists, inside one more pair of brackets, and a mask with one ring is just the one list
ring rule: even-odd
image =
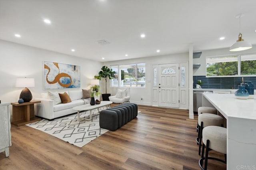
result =
[[16,87],[25,87],[20,93],[20,99],[23,99],[24,102],[32,100],[32,94],[27,87],[35,87],[34,78],[16,78]]

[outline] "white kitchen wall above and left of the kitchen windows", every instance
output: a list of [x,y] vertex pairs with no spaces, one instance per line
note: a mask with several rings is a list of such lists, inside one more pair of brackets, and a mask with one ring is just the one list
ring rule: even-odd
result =
[[229,48],[202,51],[202,55],[200,58],[193,59],[193,64],[201,64],[201,66],[198,69],[193,69],[193,75],[206,75],[206,57],[248,53],[256,53],[256,45],[252,45],[251,49],[236,52],[230,52]]

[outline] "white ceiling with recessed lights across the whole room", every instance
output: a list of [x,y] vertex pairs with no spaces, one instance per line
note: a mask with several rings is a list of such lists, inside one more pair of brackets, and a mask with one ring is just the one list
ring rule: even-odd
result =
[[256,0],[0,0],[0,39],[112,61],[184,53],[190,43],[194,51],[230,47],[240,13],[244,40],[256,44]]

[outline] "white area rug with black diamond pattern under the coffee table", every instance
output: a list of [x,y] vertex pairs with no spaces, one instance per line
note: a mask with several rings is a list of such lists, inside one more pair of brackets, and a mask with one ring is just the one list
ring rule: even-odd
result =
[[[94,112],[98,112],[98,110],[92,110],[92,113]],[[88,115],[90,115],[90,111],[80,112],[80,117]],[[100,116],[98,115],[93,117],[91,121],[78,121],[76,113],[54,119],[54,121],[42,119],[41,121],[27,124],[27,126],[82,148],[82,146],[108,131],[107,129],[100,128],[99,120]]]

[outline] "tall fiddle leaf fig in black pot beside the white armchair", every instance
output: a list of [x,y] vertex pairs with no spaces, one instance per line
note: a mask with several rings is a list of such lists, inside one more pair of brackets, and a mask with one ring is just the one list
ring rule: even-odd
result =
[[116,72],[112,69],[108,68],[108,66],[103,66],[101,68],[101,71],[98,73],[99,75],[94,76],[96,79],[101,80],[102,78],[105,80],[105,87],[106,87],[106,94],[102,94],[102,100],[103,101],[109,101],[108,97],[110,97],[110,93],[107,93],[107,81],[108,79],[112,79],[115,77]]

